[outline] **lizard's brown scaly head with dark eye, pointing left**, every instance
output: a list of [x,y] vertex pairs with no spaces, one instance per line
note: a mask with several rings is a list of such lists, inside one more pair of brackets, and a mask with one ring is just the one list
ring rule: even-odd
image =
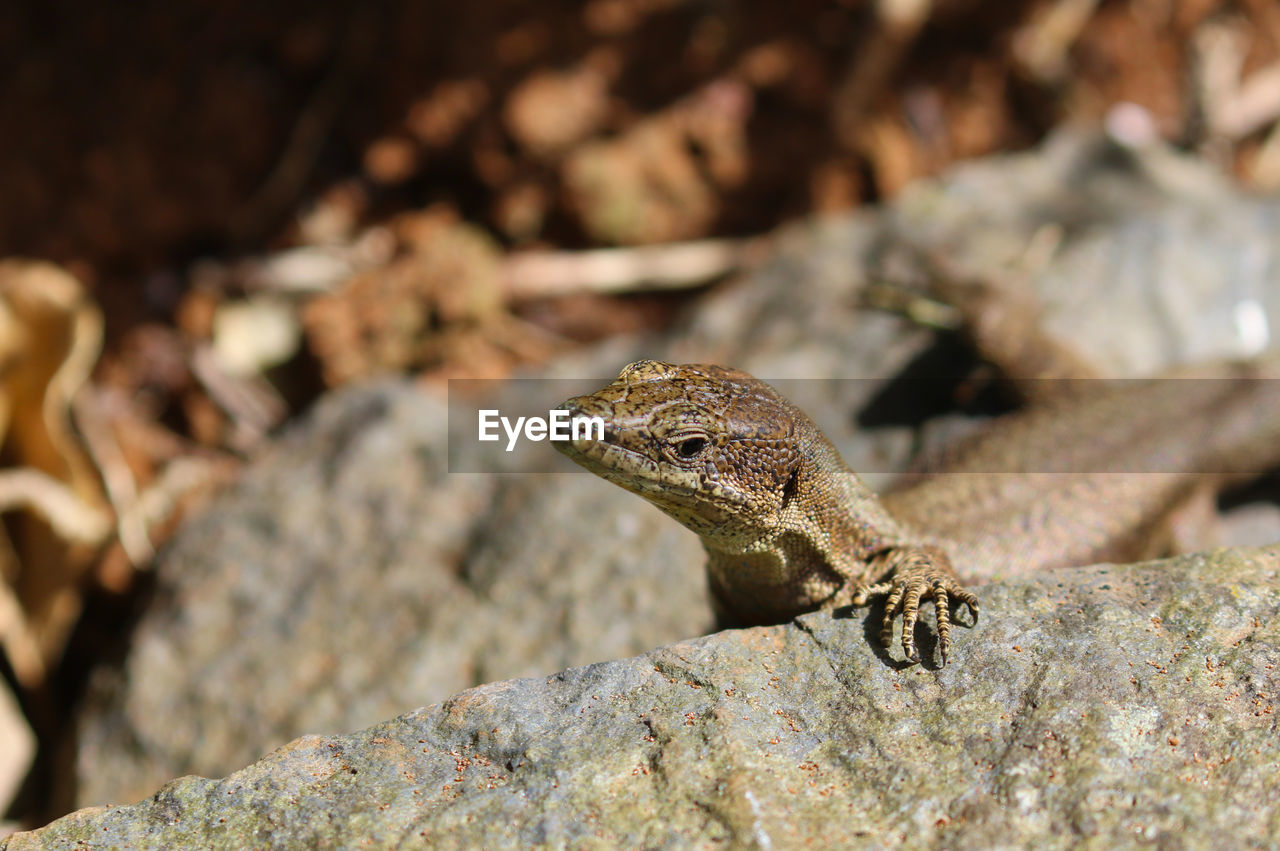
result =
[[604,438],[580,433],[557,449],[708,543],[759,539],[794,489],[799,412],[745,372],[636,361],[559,407],[572,420],[600,417]]

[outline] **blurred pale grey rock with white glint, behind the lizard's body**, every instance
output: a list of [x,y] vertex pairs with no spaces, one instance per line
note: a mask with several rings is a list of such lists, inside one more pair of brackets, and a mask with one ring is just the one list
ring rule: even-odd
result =
[[1280,342],[1280,200],[1162,146],[1064,131],[963,164],[886,211],[877,253],[904,248],[1032,289],[1047,334],[1106,375]]

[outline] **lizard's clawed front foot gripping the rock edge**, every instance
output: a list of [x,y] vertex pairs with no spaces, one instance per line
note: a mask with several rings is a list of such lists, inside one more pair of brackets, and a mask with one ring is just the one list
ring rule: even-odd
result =
[[893,621],[902,616],[902,653],[908,662],[919,662],[915,648],[915,621],[919,617],[920,601],[933,600],[938,619],[938,653],[942,664],[947,663],[947,650],[951,648],[951,607],[966,605],[973,622],[978,623],[978,598],[960,585],[959,577],[951,569],[945,554],[927,548],[900,548],[886,553],[882,564],[890,572],[890,578],[874,585],[860,585],[854,589],[852,604],[865,605],[872,598],[888,596],[884,601],[884,621],[881,623],[881,644],[888,648],[893,642]]

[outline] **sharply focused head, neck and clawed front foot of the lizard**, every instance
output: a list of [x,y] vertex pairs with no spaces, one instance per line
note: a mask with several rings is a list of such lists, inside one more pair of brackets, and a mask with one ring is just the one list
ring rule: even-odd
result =
[[603,417],[603,441],[557,448],[698,532],[722,622],[777,623],[888,595],[882,639],[902,614],[902,650],[932,599],[943,662],[961,587],[937,546],[900,526],[799,408],[768,384],[719,366],[639,361],[562,406]]

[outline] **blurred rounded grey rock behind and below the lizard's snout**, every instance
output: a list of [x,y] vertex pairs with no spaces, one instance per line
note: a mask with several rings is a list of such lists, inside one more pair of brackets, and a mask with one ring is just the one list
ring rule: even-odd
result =
[[444,421],[408,381],[335,393],[183,529],[90,688],[81,802],[710,627],[691,532],[588,475],[451,475]]

